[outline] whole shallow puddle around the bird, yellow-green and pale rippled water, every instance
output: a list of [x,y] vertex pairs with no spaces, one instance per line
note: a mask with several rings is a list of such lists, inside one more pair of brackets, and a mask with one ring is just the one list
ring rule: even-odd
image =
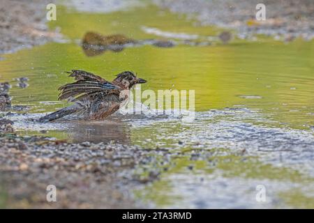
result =
[[[111,13],[82,12],[70,6],[59,10],[50,27],[60,27],[66,43],[1,55],[0,80],[12,80],[13,103],[31,112],[8,116],[20,134],[168,149],[169,157],[159,157],[165,161],[160,167],[140,165],[137,170],[161,173],[159,180],[135,191],[151,206],[313,207],[313,41],[281,43],[261,37],[223,45],[215,37],[220,29],[194,26],[182,15],[145,4]],[[155,32],[147,32],[147,27]],[[136,40],[171,33],[177,41],[184,33],[213,43],[143,45],[88,57],[80,47],[87,31],[123,33]],[[72,81],[61,74],[71,69],[95,72],[108,80],[122,70],[133,70],[148,80],[142,90],[194,89],[196,119],[183,123],[180,116],[117,114],[94,122],[31,121],[67,105],[57,101],[57,88]],[[29,86],[15,86],[16,77],[29,77]],[[260,184],[267,187],[265,203],[255,200],[255,187]]]

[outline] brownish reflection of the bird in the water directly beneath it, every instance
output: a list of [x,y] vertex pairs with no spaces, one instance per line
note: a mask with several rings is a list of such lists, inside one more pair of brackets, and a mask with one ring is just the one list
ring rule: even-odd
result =
[[130,144],[128,125],[119,120],[73,122],[70,126],[69,137],[77,143],[83,141],[110,143],[110,141],[114,141],[118,144]]

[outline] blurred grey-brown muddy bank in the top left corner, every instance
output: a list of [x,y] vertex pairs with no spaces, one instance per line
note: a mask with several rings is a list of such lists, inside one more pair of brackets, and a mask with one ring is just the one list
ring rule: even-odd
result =
[[54,1],[2,0],[0,4],[0,54],[60,40],[46,25],[46,6]]

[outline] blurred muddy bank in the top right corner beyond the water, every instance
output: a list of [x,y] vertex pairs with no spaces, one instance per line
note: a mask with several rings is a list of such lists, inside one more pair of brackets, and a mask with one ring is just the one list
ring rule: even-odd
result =
[[314,38],[314,1],[311,0],[263,0],[266,21],[255,19],[257,2],[248,0],[154,0],[158,6],[174,13],[184,13],[196,19],[195,25],[216,25],[235,29],[239,38],[251,38],[254,34],[274,36],[276,39],[293,40]]

